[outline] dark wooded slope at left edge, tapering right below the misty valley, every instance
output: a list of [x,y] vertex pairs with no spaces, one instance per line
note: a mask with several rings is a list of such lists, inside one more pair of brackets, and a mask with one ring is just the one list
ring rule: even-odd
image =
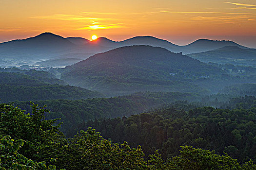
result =
[[104,97],[95,91],[61,85],[65,83],[59,79],[47,78],[41,71],[27,71],[26,73],[42,75],[34,77],[22,73],[0,72],[0,102]]

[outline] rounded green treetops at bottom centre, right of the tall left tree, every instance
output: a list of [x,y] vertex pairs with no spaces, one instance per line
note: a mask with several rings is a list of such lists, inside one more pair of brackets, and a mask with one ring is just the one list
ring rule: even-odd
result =
[[[88,128],[69,139],[64,148],[65,156],[59,157],[59,165],[68,170],[145,170],[144,153],[138,146],[130,148],[127,142],[112,144]],[[58,163],[57,161],[57,163]]]

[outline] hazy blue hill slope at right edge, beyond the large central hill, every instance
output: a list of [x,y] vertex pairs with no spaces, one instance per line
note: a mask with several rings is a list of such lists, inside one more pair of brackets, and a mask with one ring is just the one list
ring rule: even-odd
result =
[[225,46],[216,50],[188,54],[202,62],[256,66],[256,49]]

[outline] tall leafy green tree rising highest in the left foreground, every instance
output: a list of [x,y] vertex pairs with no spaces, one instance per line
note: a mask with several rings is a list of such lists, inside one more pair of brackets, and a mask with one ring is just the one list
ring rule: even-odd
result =
[[[36,160],[50,162],[53,155],[59,153],[56,148],[65,143],[59,126],[53,126],[58,119],[44,120],[44,113],[48,110],[32,103],[32,115],[25,114],[21,109],[0,105],[0,134],[12,136],[14,140],[25,140],[20,153]],[[63,143],[62,143],[63,142]]]

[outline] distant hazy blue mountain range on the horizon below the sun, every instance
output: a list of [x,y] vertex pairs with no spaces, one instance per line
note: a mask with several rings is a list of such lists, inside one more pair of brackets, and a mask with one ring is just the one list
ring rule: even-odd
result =
[[15,58],[23,62],[31,61],[29,64],[56,58],[86,59],[95,53],[131,45],[162,47],[172,52],[183,52],[184,54],[215,50],[225,46],[248,49],[235,42],[224,40],[199,39],[186,46],[178,46],[153,36],[136,36],[123,41],[112,41],[99,37],[89,41],[80,37],[64,38],[52,33],[43,33],[27,39],[0,43],[0,59]]

